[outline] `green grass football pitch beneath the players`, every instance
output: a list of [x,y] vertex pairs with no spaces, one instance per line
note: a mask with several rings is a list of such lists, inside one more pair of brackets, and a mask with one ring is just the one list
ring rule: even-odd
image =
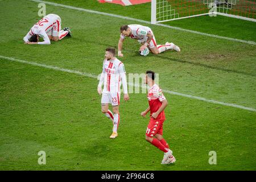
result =
[[[51,2],[150,21],[150,3]],[[38,3],[0,1],[0,170],[256,169],[255,22],[201,16],[164,23],[242,43],[46,4],[47,14],[72,27],[72,38],[25,45],[23,36],[40,19]],[[169,103],[163,137],[175,164],[160,164],[163,152],[145,140],[145,93],[130,93],[127,102],[121,96],[118,138],[109,139],[112,122],[101,113],[97,76],[105,48],[117,48],[123,24],[149,26],[158,44],[181,48],[143,57],[140,45],[126,39],[119,58],[127,74],[159,73]],[[39,151],[46,152],[45,165],[38,164]],[[209,164],[210,151],[217,164]]]

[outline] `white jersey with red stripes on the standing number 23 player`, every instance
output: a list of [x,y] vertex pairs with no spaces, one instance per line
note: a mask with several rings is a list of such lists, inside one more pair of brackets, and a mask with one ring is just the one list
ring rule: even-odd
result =
[[[104,60],[102,73],[104,76],[104,90],[103,92],[120,92],[121,87],[121,73],[125,72],[123,63],[115,58],[115,60]],[[126,87],[126,86],[125,86]],[[126,90],[124,90],[127,93]]]

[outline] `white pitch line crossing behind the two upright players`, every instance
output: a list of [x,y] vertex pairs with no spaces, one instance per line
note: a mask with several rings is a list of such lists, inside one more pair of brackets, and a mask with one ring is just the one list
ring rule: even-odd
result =
[[[77,75],[97,79],[96,75],[92,75],[90,73],[84,73],[84,72],[80,72],[80,71],[74,71],[74,70],[71,70],[71,69],[59,68],[59,67],[54,67],[54,66],[51,66],[51,65],[45,65],[45,64],[25,61],[25,60],[21,60],[21,59],[16,59],[14,57],[6,57],[6,56],[1,56],[0,55],[0,59],[5,59],[5,60],[9,60],[9,61],[15,61],[15,62],[19,62],[19,63],[30,64],[30,65],[35,65],[35,66],[38,66],[38,67],[43,67],[43,68],[48,68],[48,69],[54,69],[54,70],[61,71],[61,72],[75,73]],[[133,83],[131,83],[131,82],[129,82],[128,84],[133,85]],[[136,86],[136,85],[134,85],[134,86]],[[200,101],[210,102],[212,104],[219,104],[219,105],[224,105],[224,106],[236,107],[236,108],[239,108],[239,109],[250,110],[250,111],[256,112],[256,109],[250,108],[250,107],[240,106],[240,105],[236,105],[236,104],[229,104],[229,103],[221,102],[221,101],[209,100],[207,98],[191,96],[191,95],[188,95],[188,94],[173,92],[173,91],[170,91],[170,90],[163,90],[163,92],[173,94],[173,95],[177,95],[177,96],[193,98],[193,99],[200,100]]]

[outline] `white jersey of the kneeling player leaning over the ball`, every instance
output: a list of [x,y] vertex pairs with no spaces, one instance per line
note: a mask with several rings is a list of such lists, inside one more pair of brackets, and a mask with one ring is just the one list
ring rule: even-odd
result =
[[[132,39],[144,39],[147,37],[147,32],[150,31],[152,32],[152,30],[150,29],[150,27],[144,27],[140,24],[129,24],[128,25],[129,28],[131,28],[131,35],[130,38]],[[120,35],[121,39],[125,39],[124,35]]]

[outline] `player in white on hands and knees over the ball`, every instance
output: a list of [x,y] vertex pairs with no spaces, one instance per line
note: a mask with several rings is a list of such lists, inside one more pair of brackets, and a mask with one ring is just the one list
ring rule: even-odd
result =
[[138,40],[142,44],[139,51],[143,51],[146,47],[154,54],[164,52],[168,49],[180,52],[180,48],[174,43],[166,43],[165,45],[156,44],[155,36],[150,27],[144,27],[140,24],[124,25],[120,28],[120,39],[118,42],[118,56],[123,57],[122,48],[125,37]]

